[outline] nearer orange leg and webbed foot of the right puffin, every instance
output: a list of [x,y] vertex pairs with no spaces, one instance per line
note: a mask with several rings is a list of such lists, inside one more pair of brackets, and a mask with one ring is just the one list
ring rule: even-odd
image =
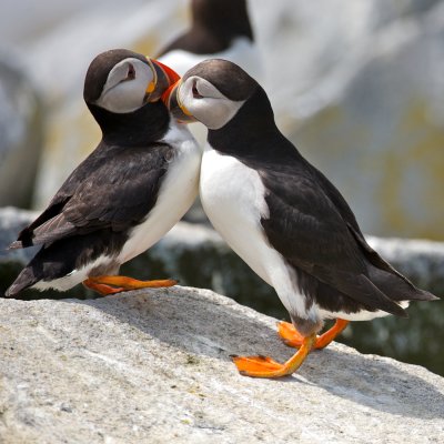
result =
[[304,337],[301,347],[290,357],[289,361],[280,364],[266,356],[231,356],[239,373],[251,377],[281,377],[295,372],[305,361],[313,345],[316,342],[316,334]]

